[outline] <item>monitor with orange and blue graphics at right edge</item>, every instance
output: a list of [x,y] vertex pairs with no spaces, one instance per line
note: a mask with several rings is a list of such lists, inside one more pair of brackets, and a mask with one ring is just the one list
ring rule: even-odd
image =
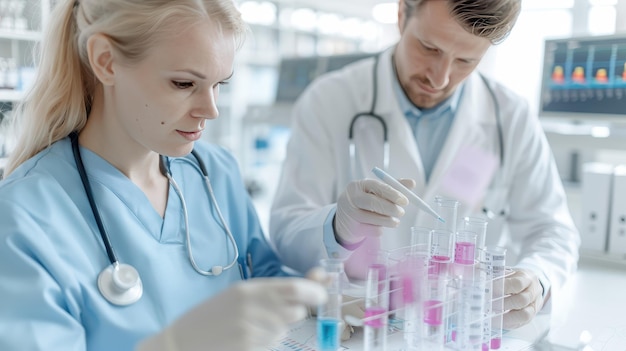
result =
[[540,115],[626,121],[626,35],[545,40]]

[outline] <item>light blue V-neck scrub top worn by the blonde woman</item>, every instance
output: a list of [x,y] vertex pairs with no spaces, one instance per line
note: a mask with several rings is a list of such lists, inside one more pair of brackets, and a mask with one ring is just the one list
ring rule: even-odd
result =
[[[217,203],[251,276],[286,275],[262,233],[238,165],[224,149],[197,143]],[[144,285],[135,304],[114,306],[97,277],[110,263],[68,138],[43,150],[0,182],[0,350],[132,350],[189,309],[242,279],[238,265],[198,274],[185,247],[181,201],[170,186],[162,218],[120,171],[81,148],[95,201],[120,262]],[[189,211],[196,263],[208,270],[233,260],[204,179],[193,164],[170,159]]]

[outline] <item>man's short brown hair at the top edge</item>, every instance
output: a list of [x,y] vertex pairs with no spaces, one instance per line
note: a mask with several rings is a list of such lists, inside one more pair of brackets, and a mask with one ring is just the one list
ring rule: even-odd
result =
[[[403,0],[405,17],[417,13],[427,1],[441,0]],[[450,14],[461,27],[473,35],[488,39],[492,44],[500,43],[509,35],[522,7],[522,0],[445,1]]]

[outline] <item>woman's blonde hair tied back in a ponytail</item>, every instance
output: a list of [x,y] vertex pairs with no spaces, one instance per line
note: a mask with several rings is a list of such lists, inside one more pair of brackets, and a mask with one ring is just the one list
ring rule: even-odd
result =
[[240,45],[247,27],[232,0],[63,0],[57,2],[37,59],[37,77],[13,116],[15,147],[5,175],[52,143],[81,130],[99,84],[87,40],[101,33],[128,62],[159,40],[201,20],[215,21]]

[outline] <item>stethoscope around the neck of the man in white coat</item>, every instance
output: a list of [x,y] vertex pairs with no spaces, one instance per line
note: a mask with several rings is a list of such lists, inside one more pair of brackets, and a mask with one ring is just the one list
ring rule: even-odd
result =
[[[374,92],[372,96],[372,107],[370,108],[369,112],[360,112],[354,115],[354,117],[352,117],[352,121],[350,122],[350,128],[348,129],[348,141],[349,141],[349,148],[350,148],[349,150],[350,151],[350,170],[352,171],[353,175],[356,174],[356,145],[354,143],[354,125],[356,124],[357,120],[361,117],[372,117],[378,120],[380,125],[382,126],[383,128],[383,167],[384,167],[384,170],[387,170],[389,168],[389,139],[387,136],[387,122],[385,122],[385,119],[382,116],[376,114],[376,103],[378,100],[378,62],[379,61],[380,61],[380,54],[374,56],[374,68],[372,69],[372,82],[374,86]],[[497,125],[497,130],[498,130],[500,168],[502,168],[504,165],[504,137],[502,135],[500,104],[498,103],[496,94],[491,88],[491,85],[489,85],[487,78],[482,74],[480,74],[480,78],[485,83],[485,86],[487,87],[487,91],[489,91],[489,95],[491,95],[491,99],[493,100],[495,116],[496,116],[496,125]],[[500,212],[495,213],[489,210],[487,207],[483,207],[482,211],[490,219],[495,218],[496,215],[499,215],[499,216],[506,215],[505,210],[501,210]]]

